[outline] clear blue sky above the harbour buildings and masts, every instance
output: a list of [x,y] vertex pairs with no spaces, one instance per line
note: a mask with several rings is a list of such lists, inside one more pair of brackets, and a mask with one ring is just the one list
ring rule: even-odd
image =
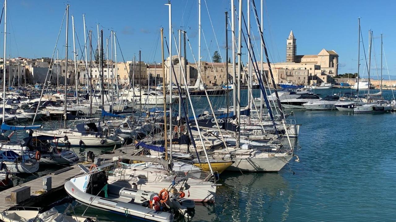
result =
[[[69,58],[72,58],[72,19],[76,29],[76,48],[81,52],[84,48],[84,27],[82,14],[86,16],[86,27],[93,30],[93,45],[97,42],[97,24],[103,29],[104,38],[110,37],[110,30],[117,35],[118,61],[133,60],[141,50],[141,59],[146,63],[161,61],[160,28],[169,40],[168,31],[168,0],[8,0],[7,56],[41,58],[53,56],[57,36],[65,14],[66,4],[69,10]],[[198,59],[198,0],[173,0],[172,27],[187,31],[187,59],[194,62]],[[238,8],[238,1],[235,0]],[[255,0],[257,13],[260,17],[260,0]],[[271,62],[282,62],[286,54],[286,38],[293,30],[297,39],[297,55],[316,55],[323,48],[334,50],[339,54],[339,73],[357,71],[358,60],[358,17],[361,18],[361,76],[366,75],[364,66],[363,45],[368,54],[368,30],[373,30],[373,47],[371,54],[371,75],[380,69],[381,33],[386,56],[383,58],[383,73],[393,75],[396,70],[394,60],[396,53],[394,41],[396,2],[377,0],[375,4],[369,0],[345,1],[264,1],[264,37],[270,53]],[[238,9],[237,9],[238,10]],[[202,40],[201,58],[210,61],[214,51],[220,51],[225,58],[225,11],[230,17],[230,0],[202,0]],[[247,20],[247,0],[242,2],[242,11]],[[210,17],[209,17],[210,16]],[[4,15],[0,25],[4,33]],[[57,49],[59,57],[65,57],[65,23],[64,21]],[[228,24],[230,30],[230,24]],[[242,23],[242,26],[243,23]],[[236,23],[238,30],[238,23]],[[259,59],[260,40],[257,24],[251,6],[251,37],[257,59]],[[246,31],[244,31],[246,33]],[[236,33],[238,34],[238,33]],[[178,36],[176,36],[178,39]],[[229,48],[231,49],[231,32],[228,32]],[[0,41],[4,42],[3,35]],[[106,44],[106,41],[104,40]],[[176,54],[175,42],[172,41],[172,54]],[[242,38],[242,44],[244,40]],[[242,61],[247,61],[246,48]],[[0,46],[3,51],[3,44]],[[77,50],[76,50],[77,51]],[[165,50],[167,51],[167,50]],[[229,56],[232,51],[228,51]],[[121,55],[122,54],[122,55]],[[79,53],[79,58],[83,53]],[[166,53],[166,56],[168,53]],[[194,55],[194,57],[193,57]],[[54,54],[56,58],[56,52]],[[367,55],[368,56],[368,55]],[[111,55],[109,56],[111,57]],[[124,57],[124,58],[122,58]],[[136,58],[138,59],[138,57]],[[395,76],[396,77],[396,76]],[[385,77],[387,79],[388,77]]]

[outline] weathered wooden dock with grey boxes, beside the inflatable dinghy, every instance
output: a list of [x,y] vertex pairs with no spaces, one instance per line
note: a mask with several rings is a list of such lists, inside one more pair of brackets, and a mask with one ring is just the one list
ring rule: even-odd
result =
[[[112,160],[113,157],[115,156],[123,156],[123,155],[128,155],[133,153],[133,150],[135,149],[135,146],[128,146],[128,147],[122,147],[120,149],[116,149],[114,153],[111,154],[101,154],[98,157],[100,157],[102,160]],[[90,166],[89,164],[84,164],[84,166]],[[4,190],[0,192],[0,210],[4,211],[7,210],[9,207],[13,206],[25,206],[25,207],[32,207],[35,206],[37,203],[40,203],[44,200],[48,200],[46,198],[50,197],[51,195],[56,195],[57,192],[63,190],[63,186],[67,181],[69,181],[71,178],[82,174],[82,171],[80,167],[77,165],[73,165],[70,167],[65,167],[62,168],[58,171],[52,172],[48,175],[45,176],[51,176],[52,184],[51,184],[51,190],[48,192],[40,192],[43,191],[43,178],[38,177],[32,181],[25,182],[23,184],[19,184],[18,186],[14,186],[12,188],[9,188],[7,190]],[[11,192],[14,192],[15,190],[22,188],[22,187],[30,187],[30,198],[18,203],[8,203],[6,201],[6,198],[10,196]],[[36,193],[38,192],[38,193]]]

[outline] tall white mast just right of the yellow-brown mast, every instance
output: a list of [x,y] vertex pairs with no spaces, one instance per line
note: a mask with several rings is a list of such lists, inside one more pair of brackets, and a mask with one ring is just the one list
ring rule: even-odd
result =
[[[172,6],[169,2],[169,103],[172,104]],[[199,0],[199,5],[201,6],[201,0]],[[201,18],[201,17],[200,17]],[[201,21],[201,20],[200,20]],[[199,32],[198,38],[200,38],[201,33]],[[169,105],[169,150],[171,153],[170,162],[172,162],[172,106]]]

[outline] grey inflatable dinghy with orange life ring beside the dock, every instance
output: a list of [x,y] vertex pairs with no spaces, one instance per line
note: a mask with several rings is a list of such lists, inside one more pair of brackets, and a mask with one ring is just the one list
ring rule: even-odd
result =
[[195,207],[193,201],[181,198],[185,195],[183,191],[174,193],[175,186],[185,185],[186,181],[174,181],[174,184],[156,192],[138,190],[129,188],[131,186],[108,184],[105,171],[94,170],[67,181],[65,190],[78,202],[96,209],[143,220],[172,222],[173,211],[190,217],[187,209]]

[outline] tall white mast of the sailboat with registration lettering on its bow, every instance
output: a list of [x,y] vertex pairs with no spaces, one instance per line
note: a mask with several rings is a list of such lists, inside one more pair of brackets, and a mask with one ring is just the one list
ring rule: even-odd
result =
[[[237,106],[236,106],[236,113],[237,113],[237,121],[238,121],[238,128],[240,130],[240,123],[241,123],[241,59],[242,59],[242,0],[239,0],[239,20],[238,20],[238,83],[237,83]],[[240,134],[236,134],[236,148],[240,148]]]

